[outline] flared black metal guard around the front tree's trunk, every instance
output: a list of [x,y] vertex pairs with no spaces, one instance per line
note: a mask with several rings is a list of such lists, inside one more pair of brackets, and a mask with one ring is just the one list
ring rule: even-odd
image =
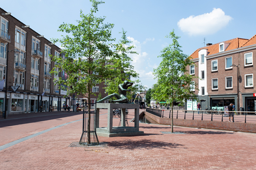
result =
[[99,140],[96,134],[96,103],[83,103],[83,105],[83,133],[79,144],[98,145]]

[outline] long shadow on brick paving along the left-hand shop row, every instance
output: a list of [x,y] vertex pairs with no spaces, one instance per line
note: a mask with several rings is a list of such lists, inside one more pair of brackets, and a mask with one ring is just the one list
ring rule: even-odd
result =
[[34,123],[34,122],[42,122],[52,119],[61,120],[61,118],[69,117],[69,116],[75,116],[81,114],[81,119],[83,118],[82,112],[79,113],[56,113],[54,115],[44,115],[41,116],[32,116],[29,117],[29,114],[26,115],[27,117],[23,118],[15,118],[15,119],[5,119],[0,121],[0,127],[8,127],[8,126],[14,126],[14,125],[22,125],[27,123]]

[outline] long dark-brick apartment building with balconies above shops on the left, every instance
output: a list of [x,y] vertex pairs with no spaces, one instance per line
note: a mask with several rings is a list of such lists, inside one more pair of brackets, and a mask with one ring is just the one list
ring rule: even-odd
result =
[[5,79],[0,113],[5,108],[7,114],[38,112],[40,105],[46,111],[50,105],[54,111],[60,110],[69,102],[64,98],[67,91],[59,90],[53,80],[67,78],[67,74],[49,73],[56,64],[49,55],[64,58],[61,49],[2,8],[0,22],[0,81]]

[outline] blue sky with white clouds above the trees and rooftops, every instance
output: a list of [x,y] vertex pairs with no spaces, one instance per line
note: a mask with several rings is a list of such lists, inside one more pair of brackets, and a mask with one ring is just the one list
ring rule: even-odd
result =
[[[90,11],[89,0],[5,0],[1,8],[21,22],[44,35],[59,38],[61,23],[76,23],[80,9]],[[192,54],[206,43],[218,43],[236,37],[253,37],[256,1],[252,0],[105,0],[97,16],[106,16],[113,23],[112,36],[119,40],[122,28],[136,46],[132,64],[143,85],[151,88],[157,82],[152,72],[161,62],[160,51],[171,39],[165,38],[172,29],[180,36],[184,54]],[[60,45],[60,44],[56,44]]]

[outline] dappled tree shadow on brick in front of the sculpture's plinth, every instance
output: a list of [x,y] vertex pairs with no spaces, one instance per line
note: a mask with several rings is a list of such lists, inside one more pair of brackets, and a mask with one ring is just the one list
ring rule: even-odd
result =
[[123,141],[113,141],[108,142],[109,147],[115,147],[117,149],[143,149],[143,150],[151,150],[153,148],[161,148],[161,149],[170,149],[177,148],[183,146],[182,144],[175,144],[163,141],[154,141],[150,139],[141,139],[138,141],[134,140],[123,140]]

